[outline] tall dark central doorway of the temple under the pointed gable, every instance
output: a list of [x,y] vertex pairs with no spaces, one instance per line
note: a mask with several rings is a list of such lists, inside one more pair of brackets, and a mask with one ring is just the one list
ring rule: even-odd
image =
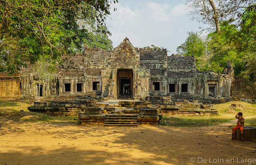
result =
[[129,99],[133,97],[133,72],[132,69],[117,70],[117,96],[118,99]]

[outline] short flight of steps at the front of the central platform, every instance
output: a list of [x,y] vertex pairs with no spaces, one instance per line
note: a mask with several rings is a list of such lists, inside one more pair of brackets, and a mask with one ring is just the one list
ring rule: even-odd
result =
[[138,126],[138,114],[106,114],[104,126]]

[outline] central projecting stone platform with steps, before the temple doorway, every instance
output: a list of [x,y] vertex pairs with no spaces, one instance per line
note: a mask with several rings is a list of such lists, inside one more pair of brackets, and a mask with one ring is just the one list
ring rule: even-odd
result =
[[82,123],[104,123],[104,126],[137,126],[156,123],[162,115],[149,101],[108,100],[84,107],[78,118]]

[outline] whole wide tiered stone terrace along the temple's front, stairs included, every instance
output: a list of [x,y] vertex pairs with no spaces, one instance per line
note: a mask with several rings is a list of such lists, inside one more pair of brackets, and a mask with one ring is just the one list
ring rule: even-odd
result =
[[56,116],[76,116],[82,123],[104,124],[104,126],[137,126],[138,123],[156,123],[162,115],[208,116],[218,111],[211,104],[172,102],[170,96],[159,98],[156,105],[138,100],[92,100],[34,102],[28,107],[32,112]]

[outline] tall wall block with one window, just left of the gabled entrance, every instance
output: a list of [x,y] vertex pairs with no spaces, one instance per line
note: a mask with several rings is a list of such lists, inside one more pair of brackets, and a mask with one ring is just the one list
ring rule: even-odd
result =
[[112,78],[112,52],[102,49],[86,49],[84,57],[86,95],[108,96],[108,79]]

